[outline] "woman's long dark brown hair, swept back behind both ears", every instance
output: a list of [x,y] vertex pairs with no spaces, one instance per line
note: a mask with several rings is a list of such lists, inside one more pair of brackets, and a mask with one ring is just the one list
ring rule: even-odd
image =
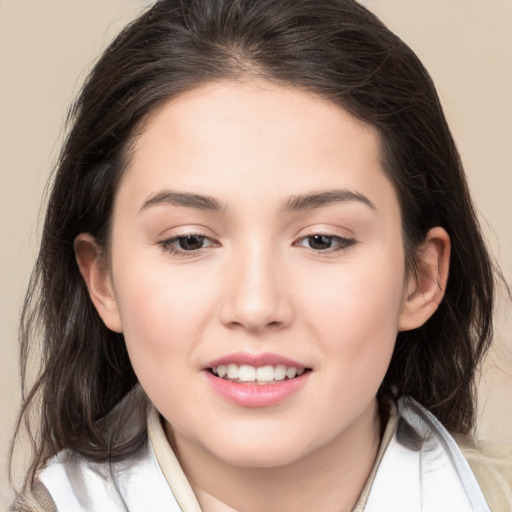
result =
[[[133,453],[144,422],[121,441],[101,427],[137,384],[123,336],[105,327],[75,261],[91,233],[108,248],[112,207],[130,148],[164,102],[205,83],[258,78],[320,95],[376,127],[398,192],[406,261],[433,226],[451,238],[444,300],[420,328],[398,334],[382,391],[410,395],[455,432],[475,421],[475,375],[492,337],[493,264],[432,80],[413,51],[354,0],[161,0],[127,26],[70,111],[53,176],[21,329],[30,485],[69,448],[93,460]],[[29,356],[40,361],[27,379]],[[30,383],[28,382],[30,380]],[[146,401],[133,404],[143,418]]]

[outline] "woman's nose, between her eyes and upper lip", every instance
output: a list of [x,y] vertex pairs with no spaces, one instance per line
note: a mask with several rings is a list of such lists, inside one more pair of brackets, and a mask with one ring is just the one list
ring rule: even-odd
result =
[[229,267],[220,304],[224,325],[256,333],[280,330],[292,322],[287,272],[271,249],[240,250]]

